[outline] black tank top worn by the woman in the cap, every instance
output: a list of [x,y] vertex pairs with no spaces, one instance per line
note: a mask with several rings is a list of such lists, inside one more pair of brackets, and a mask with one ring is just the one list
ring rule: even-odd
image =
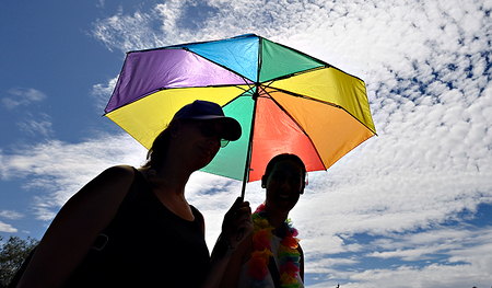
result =
[[210,257],[202,218],[191,210],[195,221],[169,211],[134,170],[127,196],[102,233],[107,241],[99,235],[67,287],[198,287]]

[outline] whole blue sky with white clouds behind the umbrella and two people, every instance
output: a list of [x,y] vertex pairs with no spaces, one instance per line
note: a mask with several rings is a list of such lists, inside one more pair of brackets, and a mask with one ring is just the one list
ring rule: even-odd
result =
[[[0,235],[145,150],[102,117],[125,53],[256,33],[366,83],[378,137],[291,217],[307,287],[492,286],[492,1],[2,1]],[[192,175],[213,244],[241,183]],[[253,206],[258,183],[247,186]]]

